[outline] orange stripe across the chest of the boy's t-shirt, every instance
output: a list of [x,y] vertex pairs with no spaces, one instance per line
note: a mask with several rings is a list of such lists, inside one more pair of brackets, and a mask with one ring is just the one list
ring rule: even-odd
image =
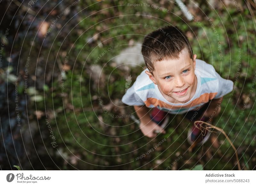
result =
[[193,107],[196,105],[200,105],[201,103],[207,103],[207,102],[209,102],[209,100],[213,99],[216,95],[217,95],[217,92],[204,93],[200,97],[197,97],[196,99],[194,99],[194,101],[190,102],[189,104],[180,105],[180,106],[169,105],[169,104],[165,103],[164,101],[158,100],[153,97],[149,97],[146,101],[144,101],[144,103],[146,104],[147,107],[149,107],[150,105],[154,105],[155,107],[160,106],[161,108],[180,109],[180,108],[184,108],[184,107],[185,108]]

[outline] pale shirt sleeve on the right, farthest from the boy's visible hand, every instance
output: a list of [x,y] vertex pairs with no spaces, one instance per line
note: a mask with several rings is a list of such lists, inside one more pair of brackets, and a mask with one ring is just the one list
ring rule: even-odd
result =
[[233,90],[234,83],[231,80],[226,80],[215,71],[216,77],[218,79],[218,89],[217,89],[217,94],[213,99],[219,99],[220,97],[225,96],[229,92]]

